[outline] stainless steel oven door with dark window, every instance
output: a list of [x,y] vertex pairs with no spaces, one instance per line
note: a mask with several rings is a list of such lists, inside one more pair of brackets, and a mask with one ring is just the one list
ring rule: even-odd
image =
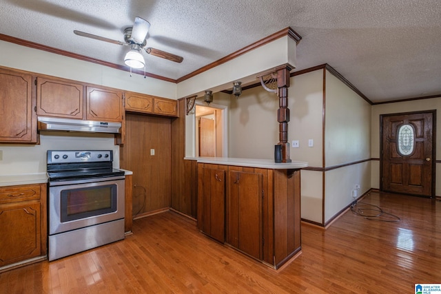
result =
[[124,177],[50,182],[49,235],[124,218]]

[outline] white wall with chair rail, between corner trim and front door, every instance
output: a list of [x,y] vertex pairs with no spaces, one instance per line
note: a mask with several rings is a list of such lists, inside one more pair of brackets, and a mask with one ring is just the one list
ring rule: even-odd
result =
[[329,72],[325,101],[325,167],[351,164],[325,172],[326,223],[371,188],[371,105]]

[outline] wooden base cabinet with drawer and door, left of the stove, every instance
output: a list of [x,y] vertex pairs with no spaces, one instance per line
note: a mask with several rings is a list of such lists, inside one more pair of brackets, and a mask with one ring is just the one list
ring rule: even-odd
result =
[[0,187],[0,270],[46,255],[45,216],[45,184]]

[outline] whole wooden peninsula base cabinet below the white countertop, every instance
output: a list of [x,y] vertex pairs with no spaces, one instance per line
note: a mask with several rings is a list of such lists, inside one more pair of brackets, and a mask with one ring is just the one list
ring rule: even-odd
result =
[[300,253],[300,222],[300,169],[198,163],[198,229],[214,240],[279,269]]

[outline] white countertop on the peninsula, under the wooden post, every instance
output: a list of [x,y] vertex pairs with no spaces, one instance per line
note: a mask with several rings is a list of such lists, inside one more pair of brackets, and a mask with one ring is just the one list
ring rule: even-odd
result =
[[263,169],[301,169],[302,167],[308,167],[308,162],[300,160],[276,163],[271,159],[258,158],[186,157],[184,159],[197,160],[197,162],[212,163],[214,165],[236,165],[241,167],[258,167]]

